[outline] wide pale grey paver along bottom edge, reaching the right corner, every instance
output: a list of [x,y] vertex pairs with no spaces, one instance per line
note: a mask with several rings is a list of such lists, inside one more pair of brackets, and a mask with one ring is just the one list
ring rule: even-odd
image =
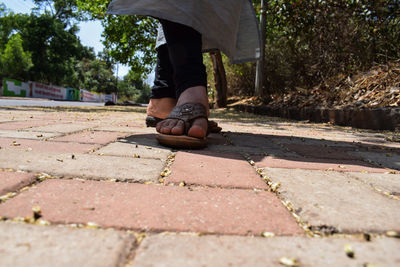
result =
[[[344,250],[351,245],[354,258]],[[295,258],[299,266],[399,266],[400,242],[376,238],[156,235],[145,238],[128,266],[284,266],[280,259]],[[290,265],[286,265],[290,266]]]

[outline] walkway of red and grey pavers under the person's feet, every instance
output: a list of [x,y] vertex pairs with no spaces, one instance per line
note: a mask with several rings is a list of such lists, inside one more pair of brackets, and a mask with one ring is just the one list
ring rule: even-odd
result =
[[394,133],[214,117],[172,151],[142,108],[0,108],[0,266],[400,266]]

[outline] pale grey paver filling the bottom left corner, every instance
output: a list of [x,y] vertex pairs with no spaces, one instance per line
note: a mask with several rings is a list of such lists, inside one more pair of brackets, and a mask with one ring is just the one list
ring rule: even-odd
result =
[[0,266],[122,266],[135,238],[113,230],[0,223]]

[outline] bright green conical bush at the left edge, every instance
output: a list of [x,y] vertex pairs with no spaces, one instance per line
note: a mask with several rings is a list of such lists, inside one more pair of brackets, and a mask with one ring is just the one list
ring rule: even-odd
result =
[[0,80],[6,77],[24,80],[32,68],[32,58],[24,51],[21,35],[14,34],[0,53]]

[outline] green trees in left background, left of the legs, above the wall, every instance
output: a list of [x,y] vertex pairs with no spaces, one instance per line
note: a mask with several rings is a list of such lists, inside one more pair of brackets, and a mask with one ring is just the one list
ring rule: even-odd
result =
[[[150,87],[144,83],[143,73],[150,71],[153,62],[154,38],[149,37],[149,33],[154,33],[152,20],[105,16],[108,4],[102,1],[97,6],[92,6],[96,1],[34,2],[37,7],[29,15],[8,12],[4,5],[0,6],[0,11],[4,11],[0,14],[1,76],[101,93],[118,92],[129,99],[148,101]],[[84,6],[93,11],[91,18],[100,16],[95,10],[103,14],[105,44],[110,50],[105,49],[97,57],[77,37],[77,21],[89,17],[88,9],[82,9]],[[116,62],[135,68],[118,86],[113,73]]]

